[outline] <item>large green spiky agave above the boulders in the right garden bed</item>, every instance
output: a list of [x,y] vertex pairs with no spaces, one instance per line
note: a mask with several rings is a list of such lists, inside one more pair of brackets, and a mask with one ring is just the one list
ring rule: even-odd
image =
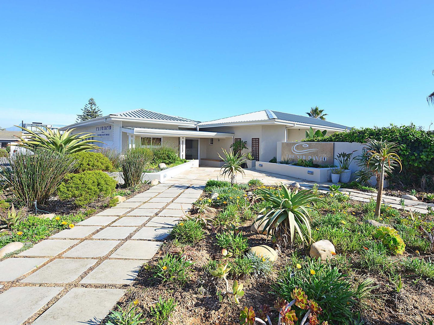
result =
[[261,212],[268,211],[256,221],[259,225],[265,223],[264,229],[267,235],[273,234],[276,237],[290,235],[290,243],[294,241],[294,234],[297,231],[301,240],[310,244],[312,232],[309,222],[309,210],[318,211],[310,204],[322,201],[316,194],[309,190],[291,191],[285,185],[279,185],[277,195],[268,189],[259,188],[260,197],[269,203]]

